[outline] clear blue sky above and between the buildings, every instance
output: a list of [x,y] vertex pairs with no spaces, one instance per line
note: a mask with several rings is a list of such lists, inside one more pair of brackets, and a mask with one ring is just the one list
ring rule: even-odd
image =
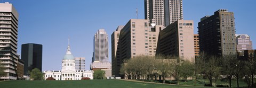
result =
[[[111,60],[111,34],[118,25],[130,19],[144,19],[143,0],[95,0],[95,1],[14,1],[3,0],[14,5],[19,13],[18,53],[23,43],[43,45],[43,71],[61,70],[61,60],[66,54],[68,36],[71,52],[75,57],[86,58],[86,69],[90,68],[93,52],[93,35],[105,29],[109,36],[109,61]],[[256,1],[234,0],[183,0],[184,20],[197,23],[205,15],[213,15],[220,8],[234,12],[236,33],[249,34],[256,48],[255,14]]]

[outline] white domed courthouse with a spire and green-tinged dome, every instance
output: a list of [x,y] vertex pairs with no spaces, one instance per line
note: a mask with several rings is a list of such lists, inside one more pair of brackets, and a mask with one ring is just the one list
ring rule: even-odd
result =
[[44,78],[53,77],[55,80],[81,80],[83,77],[93,79],[93,71],[76,71],[75,57],[71,54],[70,46],[62,59],[61,71],[44,71]]

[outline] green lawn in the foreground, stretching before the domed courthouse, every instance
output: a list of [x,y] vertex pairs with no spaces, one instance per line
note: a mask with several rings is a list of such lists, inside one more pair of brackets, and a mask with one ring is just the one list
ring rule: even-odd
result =
[[196,86],[170,85],[158,83],[133,82],[124,80],[84,80],[84,81],[4,81],[1,88],[71,88],[71,87],[157,87],[192,88]]

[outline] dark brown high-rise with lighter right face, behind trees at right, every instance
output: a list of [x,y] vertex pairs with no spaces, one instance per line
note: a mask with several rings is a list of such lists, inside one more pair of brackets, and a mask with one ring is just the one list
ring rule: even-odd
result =
[[220,9],[198,23],[200,51],[208,55],[236,55],[236,30],[233,12]]

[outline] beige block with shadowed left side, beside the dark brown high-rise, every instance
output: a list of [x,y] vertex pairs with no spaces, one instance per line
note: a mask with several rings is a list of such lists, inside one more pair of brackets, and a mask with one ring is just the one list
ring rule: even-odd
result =
[[193,61],[194,49],[194,22],[178,20],[159,32],[157,54],[179,56]]

